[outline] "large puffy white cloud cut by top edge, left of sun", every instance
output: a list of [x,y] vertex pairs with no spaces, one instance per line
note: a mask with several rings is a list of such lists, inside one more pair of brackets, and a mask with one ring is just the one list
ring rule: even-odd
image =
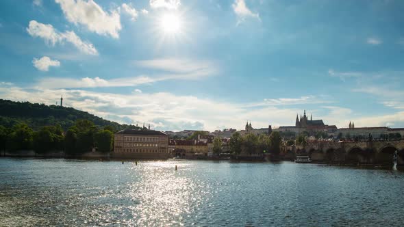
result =
[[121,17],[117,10],[105,12],[93,0],[55,0],[60,4],[64,16],[75,25],[80,24],[100,35],[119,38]]

